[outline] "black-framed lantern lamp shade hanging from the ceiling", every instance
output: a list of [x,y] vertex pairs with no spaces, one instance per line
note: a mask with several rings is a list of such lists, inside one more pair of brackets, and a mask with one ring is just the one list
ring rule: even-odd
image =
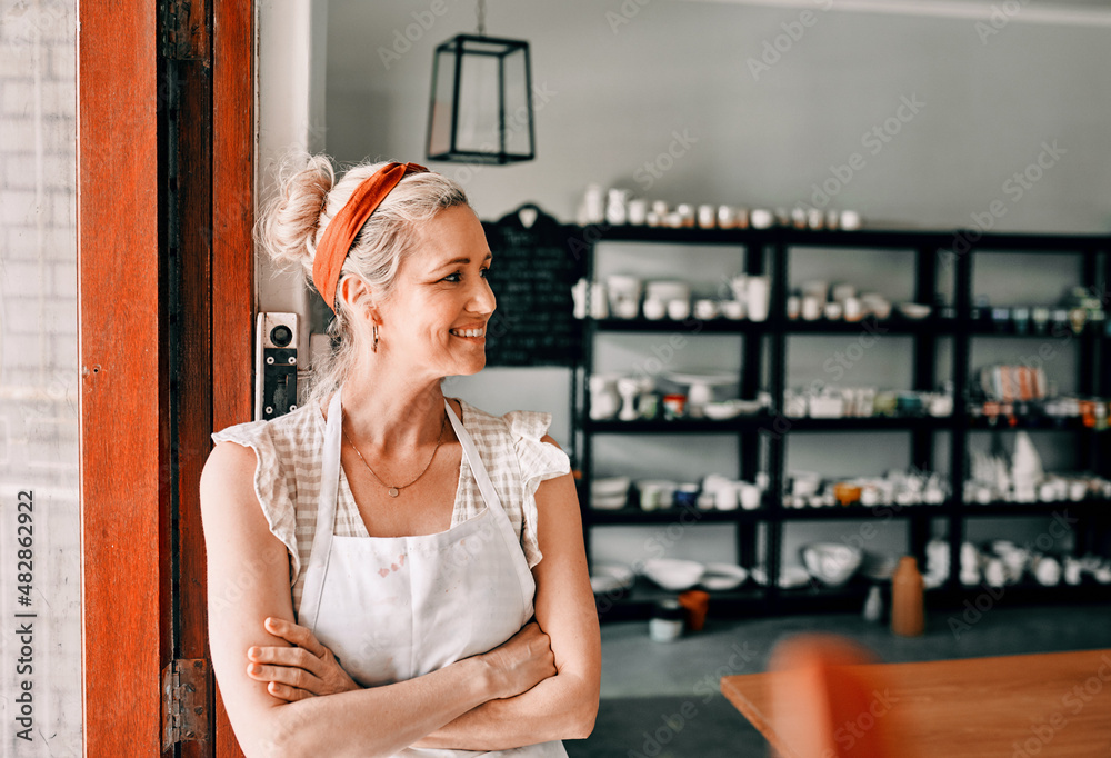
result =
[[459,34],[436,49],[429,160],[512,163],[536,157],[529,43]]

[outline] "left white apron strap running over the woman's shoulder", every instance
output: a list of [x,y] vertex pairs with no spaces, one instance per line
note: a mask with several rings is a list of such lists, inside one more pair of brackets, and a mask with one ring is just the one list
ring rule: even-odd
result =
[[320,497],[317,500],[317,523],[312,538],[312,551],[309,553],[309,566],[304,571],[304,586],[301,590],[301,607],[297,620],[301,626],[316,629],[317,615],[320,611],[320,595],[324,587],[324,575],[328,574],[328,556],[331,553],[332,532],[336,530],[336,500],[340,482],[340,452],[343,439],[343,407],[340,387],[332,396],[328,406],[328,422],[324,427],[324,447],[320,467]]

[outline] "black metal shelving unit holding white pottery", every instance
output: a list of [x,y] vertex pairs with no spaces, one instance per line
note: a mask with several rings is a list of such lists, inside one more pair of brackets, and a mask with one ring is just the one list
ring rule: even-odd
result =
[[[958,560],[969,519],[981,517],[1044,517],[1067,510],[1078,519],[1077,548],[1107,550],[1111,535],[1111,501],[1085,500],[1061,503],[963,502],[963,482],[968,470],[968,437],[979,430],[991,429],[1049,429],[1068,431],[1080,439],[1078,467],[1095,470],[1103,476],[1111,471],[1111,433],[1095,432],[1079,423],[1039,425],[1023,420],[1011,427],[1005,420],[972,418],[965,398],[970,383],[970,355],[974,339],[1032,337],[1001,331],[982,321],[973,321],[970,312],[973,302],[973,266],[978,256],[995,252],[1060,252],[1079,255],[1081,285],[1108,292],[1111,285],[1111,237],[1089,235],[1021,235],[977,233],[972,231],[810,231],[791,228],[772,229],[670,229],[648,227],[591,227],[590,233],[580,239],[591,240],[587,252],[587,276],[594,279],[595,247],[602,242],[664,242],[698,246],[733,246],[742,248],[743,270],[749,275],[771,275],[771,316],[763,322],[729,321],[725,319],[675,321],[670,319],[585,319],[583,322],[583,363],[581,377],[575,379],[572,396],[575,398],[573,432],[575,451],[581,469],[580,503],[588,555],[591,552],[592,532],[615,525],[670,525],[670,523],[732,523],[737,531],[738,562],[752,568],[758,558],[758,531],[763,528],[763,565],[767,585],[754,586],[751,579],[738,590],[712,594],[714,612],[722,615],[774,615],[794,611],[859,608],[868,585],[851,581],[839,589],[809,585],[804,588],[779,587],[782,563],[783,525],[803,520],[834,519],[907,519],[909,523],[908,552],[924,560],[925,543],[930,539],[931,520],[943,518],[948,522],[951,560]],[[587,231],[587,230],[584,230]],[[883,321],[797,321],[784,317],[790,282],[791,250],[808,249],[882,249],[904,250],[914,268],[914,300],[933,303],[939,288],[939,268],[953,277],[953,313],[943,318],[939,313],[921,320],[893,317]],[[1111,311],[1111,302],[1104,301]],[[787,389],[787,346],[792,335],[845,335],[864,329],[883,335],[899,335],[912,341],[912,390],[934,389],[939,337],[952,343],[952,376],[954,408],[951,417],[902,418],[790,418],[781,413]],[[882,330],[882,331],[881,331]],[[680,419],[674,421],[593,421],[590,419],[590,397],[585,379],[592,373],[594,346],[602,332],[675,332],[684,337],[697,335],[737,335],[740,337],[740,392],[743,398],[755,398],[765,389],[772,397],[769,413],[741,417],[728,421],[709,419]],[[1107,331],[1088,329],[1077,335],[1078,390],[1082,395],[1111,397],[1111,339]],[[764,360],[768,366],[764,366]],[[762,386],[767,377],[767,386]],[[580,383],[581,380],[581,383]],[[579,390],[581,387],[581,391]],[[792,435],[868,431],[911,436],[910,465],[920,470],[935,470],[934,441],[938,435],[948,435],[950,461],[950,492],[952,497],[940,505],[915,506],[851,506],[833,508],[787,508],[780,493],[783,491],[788,439]],[[761,507],[755,510],[699,511],[697,509],[668,508],[642,511],[637,508],[601,510],[590,506],[590,486],[593,473],[592,439],[597,435],[725,435],[738,439],[738,477],[752,481],[759,471],[765,471],[770,485]],[[763,462],[761,465],[761,458]],[[959,607],[981,588],[960,585],[955,566],[951,566],[949,581],[928,591],[932,605]],[[1009,602],[1045,602],[1054,599],[1067,601],[1111,601],[1111,587],[1092,585],[1044,588],[1037,585],[1015,585],[1005,588]],[[673,594],[655,588],[639,578],[629,591],[617,596],[601,596],[599,611],[605,619],[643,618],[653,604]]]

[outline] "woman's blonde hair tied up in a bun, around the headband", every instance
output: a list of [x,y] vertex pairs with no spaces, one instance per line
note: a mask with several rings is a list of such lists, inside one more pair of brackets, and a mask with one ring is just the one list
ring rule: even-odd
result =
[[[279,163],[274,197],[266,203],[254,229],[256,241],[283,269],[300,268],[312,286],[312,260],[328,222],[364,179],[386,161],[353,166],[336,181],[328,156],[289,156]],[[393,290],[402,260],[416,248],[420,228],[438,212],[468,206],[463,189],[439,173],[411,173],[382,200],[351,245],[340,281],[356,276],[380,297]],[[307,402],[322,400],[351,372],[371,325],[340,295],[328,326],[332,350],[312,367]]]

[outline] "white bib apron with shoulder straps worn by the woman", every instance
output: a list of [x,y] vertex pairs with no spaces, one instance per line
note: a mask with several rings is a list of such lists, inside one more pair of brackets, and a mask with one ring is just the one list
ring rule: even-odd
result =
[[[412,679],[498,647],[532,618],[536,581],[470,433],[446,400],[486,509],[434,535],[337,537],[341,392],[328,407],[316,535],[298,624],[311,629],[362,687]],[[552,741],[492,752],[406,748],[398,755],[565,758],[567,751]]]

